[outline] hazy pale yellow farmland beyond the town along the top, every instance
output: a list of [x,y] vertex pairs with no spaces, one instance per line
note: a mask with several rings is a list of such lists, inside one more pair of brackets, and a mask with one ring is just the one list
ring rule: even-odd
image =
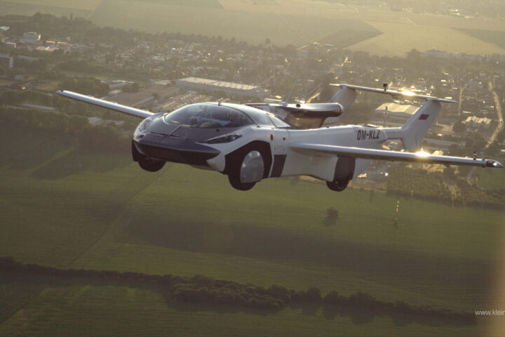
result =
[[[372,6],[324,1],[104,0],[86,4],[53,0],[2,1],[5,13],[85,16],[101,26],[146,32],[235,37],[249,44],[265,39],[279,46],[314,41],[377,55],[403,56],[412,48],[450,53],[505,53],[499,20],[393,12]],[[470,30],[469,30],[470,29]],[[478,30],[480,29],[480,30]],[[486,31],[492,31],[487,34]]]

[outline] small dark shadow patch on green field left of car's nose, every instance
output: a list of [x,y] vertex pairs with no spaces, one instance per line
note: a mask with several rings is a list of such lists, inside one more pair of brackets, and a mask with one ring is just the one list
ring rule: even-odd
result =
[[97,153],[77,149],[39,167],[39,169],[32,172],[32,177],[39,179],[59,179],[83,171],[100,173],[112,171],[130,163],[130,157],[122,153]]

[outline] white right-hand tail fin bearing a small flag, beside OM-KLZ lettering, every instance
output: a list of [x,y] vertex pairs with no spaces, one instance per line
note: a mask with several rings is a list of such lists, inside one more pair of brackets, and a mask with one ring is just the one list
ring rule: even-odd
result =
[[426,100],[401,128],[384,128],[389,139],[401,139],[403,147],[415,150],[435,121],[442,105],[437,100]]

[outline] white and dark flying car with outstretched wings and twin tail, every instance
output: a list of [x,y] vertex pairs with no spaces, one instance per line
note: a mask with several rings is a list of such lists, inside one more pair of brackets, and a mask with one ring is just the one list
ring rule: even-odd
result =
[[[414,93],[335,84],[340,89],[328,103],[233,104],[196,103],[170,113],[147,112],[71,91],[59,95],[142,119],[132,139],[132,156],[146,171],[159,171],[166,161],[211,169],[228,176],[237,190],[250,190],[265,178],[312,176],[330,190],[343,191],[372,159],[501,168],[498,161],[448,157],[426,152],[384,150],[386,140],[401,140],[417,150],[441,109],[454,100]],[[399,128],[328,126],[339,124],[356,91],[424,100]]]

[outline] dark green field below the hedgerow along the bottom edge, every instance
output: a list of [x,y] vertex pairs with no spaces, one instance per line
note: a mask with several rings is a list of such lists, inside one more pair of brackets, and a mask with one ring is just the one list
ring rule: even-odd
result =
[[[9,276],[15,279],[19,275]],[[22,276],[21,276],[22,277]],[[477,336],[482,326],[429,326],[321,308],[281,312],[177,303],[156,286],[38,279],[41,294],[0,325],[1,336]]]

